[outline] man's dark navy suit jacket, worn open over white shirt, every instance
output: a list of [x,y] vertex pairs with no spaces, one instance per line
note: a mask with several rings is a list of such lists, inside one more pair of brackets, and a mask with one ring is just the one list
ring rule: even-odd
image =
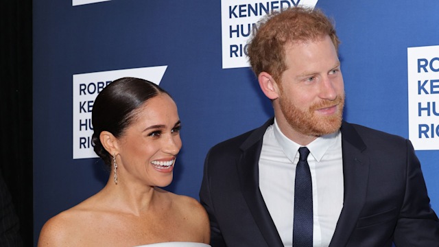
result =
[[[263,126],[211,148],[200,201],[211,245],[283,246],[259,190]],[[343,122],[344,204],[331,247],[439,246],[420,163],[407,139]]]

